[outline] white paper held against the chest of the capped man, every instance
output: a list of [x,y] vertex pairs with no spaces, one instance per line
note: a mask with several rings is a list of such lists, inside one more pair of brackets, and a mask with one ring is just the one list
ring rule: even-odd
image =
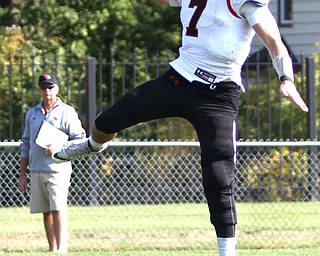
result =
[[60,131],[52,124],[43,120],[34,142],[42,147],[47,148],[48,145],[62,146],[68,141],[68,134]]

